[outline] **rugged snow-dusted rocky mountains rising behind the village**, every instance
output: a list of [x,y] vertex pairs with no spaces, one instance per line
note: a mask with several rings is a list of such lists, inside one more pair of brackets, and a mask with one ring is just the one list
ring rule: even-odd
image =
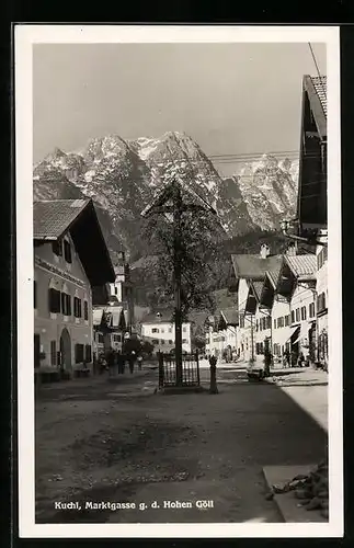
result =
[[122,246],[139,256],[140,213],[175,163],[216,208],[229,237],[273,230],[295,215],[297,163],[264,155],[222,179],[199,146],[176,132],[136,140],[94,138],[77,152],[56,148],[34,165],[34,199],[92,197],[113,258]]

